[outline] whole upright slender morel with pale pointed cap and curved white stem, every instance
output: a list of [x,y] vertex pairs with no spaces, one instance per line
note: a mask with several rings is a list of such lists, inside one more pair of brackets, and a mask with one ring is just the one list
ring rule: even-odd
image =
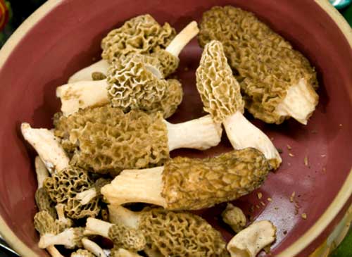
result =
[[242,114],[244,101],[239,83],[232,75],[220,42],[214,40],[206,44],[196,70],[196,87],[204,111],[224,125],[234,149],[254,147],[264,153],[272,168],[279,167],[282,160],[271,140]]

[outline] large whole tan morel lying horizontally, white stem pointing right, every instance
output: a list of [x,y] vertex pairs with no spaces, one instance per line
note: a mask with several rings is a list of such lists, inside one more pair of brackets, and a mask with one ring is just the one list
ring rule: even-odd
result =
[[111,106],[56,115],[54,125],[65,150],[73,154],[70,163],[95,173],[162,165],[173,149],[208,149],[221,139],[220,124],[210,115],[171,124],[161,113],[123,113]]

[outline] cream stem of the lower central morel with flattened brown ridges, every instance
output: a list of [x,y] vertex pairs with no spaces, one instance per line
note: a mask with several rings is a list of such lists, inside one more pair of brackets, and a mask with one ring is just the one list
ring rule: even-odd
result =
[[165,207],[165,199],[161,196],[163,191],[163,170],[164,167],[123,170],[111,184],[101,188],[101,194],[104,196],[108,194],[109,203],[114,205],[151,203]]

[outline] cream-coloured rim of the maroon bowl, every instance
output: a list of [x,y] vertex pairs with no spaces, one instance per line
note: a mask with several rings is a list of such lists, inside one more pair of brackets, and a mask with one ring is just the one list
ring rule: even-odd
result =
[[[352,49],[352,30],[348,25],[344,17],[331,5],[329,1],[326,0],[314,0],[320,8],[322,8],[327,15],[329,15],[334,23],[337,24],[342,34],[346,37],[348,44],[350,44]],[[39,23],[42,18],[51,10],[56,8],[59,4],[62,4],[61,1],[47,1],[45,4],[40,6],[37,11],[34,11],[30,17],[28,17],[20,27],[11,35],[6,44],[2,47],[0,51],[0,67],[6,63],[8,56],[11,55],[15,46],[27,35],[28,32],[34,27],[37,23]],[[291,246],[287,249],[279,253],[278,257],[289,257],[296,256],[298,253],[303,251],[310,243],[312,243],[317,237],[329,226],[329,224],[336,218],[339,211],[341,211],[344,206],[348,203],[348,200],[352,196],[352,168],[348,177],[346,177],[346,181],[344,185],[339,190],[337,196],[335,196],[332,203],[330,203],[327,210],[320,216],[320,218],[315,222],[315,224],[310,227],[310,229],[303,234],[302,237],[296,240]],[[24,244],[11,230],[11,228],[7,225],[4,218],[0,215],[0,234],[8,244],[10,244],[15,251],[17,251],[22,256],[37,256],[37,253],[34,253],[32,249],[30,249],[26,244]]]

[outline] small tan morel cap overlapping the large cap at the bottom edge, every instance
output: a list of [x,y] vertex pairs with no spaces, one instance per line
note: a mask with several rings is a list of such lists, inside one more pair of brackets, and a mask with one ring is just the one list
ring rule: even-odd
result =
[[109,229],[108,237],[114,246],[130,251],[142,251],[146,246],[146,239],[142,232],[123,224],[113,225]]

